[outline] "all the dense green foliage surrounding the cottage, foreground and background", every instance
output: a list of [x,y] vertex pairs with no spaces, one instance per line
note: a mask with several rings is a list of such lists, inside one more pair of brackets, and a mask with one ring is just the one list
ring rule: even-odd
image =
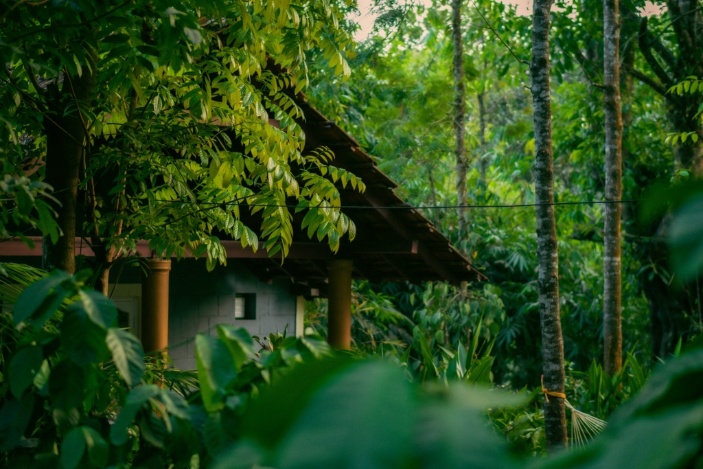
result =
[[[353,2],[0,1],[0,243],[41,234],[46,248],[43,270],[0,262],[0,463],[700,467],[703,54],[690,37],[703,20],[695,1],[649,16],[646,5],[620,4],[623,364],[612,375],[603,6],[557,1],[551,14],[559,397],[541,380],[529,17],[463,6],[463,212],[444,1],[376,1],[358,44]],[[221,324],[196,336],[196,371],[145,356],[103,294],[138,240],[212,268],[226,262],[220,237],[285,255],[292,210],[333,251],[354,238],[339,188],[364,183],[333,151],[305,148],[299,91],[487,281],[356,281],[350,351],[325,342],[327,305],[314,300],[299,337]],[[259,211],[264,223],[249,226]],[[91,269],[76,269],[74,235],[96,253]],[[547,457],[548,399],[567,403],[570,446]]]

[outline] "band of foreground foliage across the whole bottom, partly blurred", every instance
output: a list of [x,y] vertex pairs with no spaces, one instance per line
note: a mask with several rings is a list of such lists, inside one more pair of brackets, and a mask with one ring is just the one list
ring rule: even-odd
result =
[[[21,270],[12,264],[5,269]],[[31,275],[25,270],[13,278]],[[487,391],[475,387],[487,377],[461,379],[467,356],[477,355],[467,367],[480,367],[479,330],[472,353],[449,360],[449,369],[456,360],[460,379],[420,385],[404,376],[398,360],[334,354],[316,335],[254,338],[262,345],[257,353],[245,330],[221,325],[216,337],[196,338],[198,380],[193,380],[179,371],[150,368],[144,373],[141,345],[112,327],[114,306],[84,290],[81,275],[42,277],[5,314],[19,326],[20,337],[4,360],[0,409],[4,462],[13,467],[516,468],[524,462],[510,456],[509,447],[541,454],[541,413],[534,407],[539,390]],[[702,387],[696,380],[703,373],[702,353],[692,349],[671,359],[647,384],[632,356],[628,371],[607,383],[594,364],[576,378],[581,383],[567,389],[585,393],[579,406],[596,399],[598,409],[607,412],[611,401],[602,394],[641,391],[616,411],[607,437],[536,465],[609,465],[635,457],[623,456],[628,454],[636,455],[638,467],[673,468],[695,461],[702,442],[688,430],[701,421]],[[448,350],[443,354],[451,356]],[[451,373],[446,377],[451,380]],[[487,408],[507,442],[491,435],[483,416]],[[668,439],[652,439],[658,434],[652,428],[671,425],[676,430]],[[662,448],[676,456],[653,457]]]

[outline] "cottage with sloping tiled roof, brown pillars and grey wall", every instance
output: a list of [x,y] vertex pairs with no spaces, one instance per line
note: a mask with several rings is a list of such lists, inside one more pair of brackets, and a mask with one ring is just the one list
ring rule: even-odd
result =
[[[379,281],[472,281],[480,274],[432,223],[394,193],[396,184],[378,169],[375,160],[340,127],[297,95],[305,120],[307,148],[325,146],[335,153],[333,164],[360,176],[366,191],[340,186],[342,207],[356,224],[356,239],[343,240],[333,254],[296,231],[285,262],[265,250],[252,252],[239,242],[224,241],[227,265],[207,272],[204,259],[153,259],[146,243],[138,253],[148,258],[150,274],[125,267],[112,269],[112,299],[128,314],[129,326],[147,352],[168,347],[179,368],[195,368],[193,338],[214,333],[219,323],[243,326],[252,335],[285,330],[303,332],[304,300],[329,299],[329,338],[334,347],[349,348],[352,278]],[[271,120],[271,124],[277,122]],[[259,220],[260,221],[260,220]],[[302,214],[293,226],[300,226]],[[257,226],[252,219],[249,226]],[[0,243],[4,262],[40,264],[41,238],[30,250],[20,240]],[[91,250],[76,240],[76,255]],[[121,271],[120,271],[121,270]],[[114,284],[117,284],[116,286]]]

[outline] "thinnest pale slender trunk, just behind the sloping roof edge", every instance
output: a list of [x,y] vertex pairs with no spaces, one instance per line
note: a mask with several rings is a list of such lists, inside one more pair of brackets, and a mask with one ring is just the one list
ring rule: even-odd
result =
[[[466,102],[464,89],[464,47],[461,37],[461,0],[451,1],[452,38],[454,41],[454,133],[456,134],[457,205],[466,205]],[[459,236],[466,234],[466,209],[458,209]]]

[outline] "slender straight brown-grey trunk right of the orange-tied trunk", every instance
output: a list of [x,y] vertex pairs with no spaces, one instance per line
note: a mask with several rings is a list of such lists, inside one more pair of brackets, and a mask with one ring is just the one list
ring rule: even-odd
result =
[[[620,102],[619,0],[603,0],[603,89],[605,91],[605,200],[622,198],[622,109]],[[606,203],[603,238],[603,369],[622,368],[621,260],[619,203]]]

